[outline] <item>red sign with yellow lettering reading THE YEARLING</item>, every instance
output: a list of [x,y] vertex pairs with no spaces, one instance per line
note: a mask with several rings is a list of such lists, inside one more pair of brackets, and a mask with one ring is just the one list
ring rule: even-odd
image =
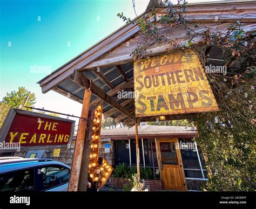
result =
[[74,127],[72,120],[10,109],[0,130],[0,142],[19,143],[23,150],[63,147],[72,143]]

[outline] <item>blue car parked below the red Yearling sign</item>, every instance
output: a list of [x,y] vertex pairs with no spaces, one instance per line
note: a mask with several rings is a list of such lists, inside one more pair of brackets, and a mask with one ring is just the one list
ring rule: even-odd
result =
[[68,191],[70,166],[47,158],[0,157],[0,192]]

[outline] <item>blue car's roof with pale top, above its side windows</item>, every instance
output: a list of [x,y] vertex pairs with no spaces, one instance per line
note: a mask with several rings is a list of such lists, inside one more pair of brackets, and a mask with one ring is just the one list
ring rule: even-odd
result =
[[[5,159],[4,159],[5,158]],[[0,173],[6,173],[11,171],[18,171],[23,169],[29,169],[36,166],[42,165],[62,165],[70,169],[70,166],[60,163],[58,161],[53,161],[49,158],[17,158],[17,157],[0,157]]]

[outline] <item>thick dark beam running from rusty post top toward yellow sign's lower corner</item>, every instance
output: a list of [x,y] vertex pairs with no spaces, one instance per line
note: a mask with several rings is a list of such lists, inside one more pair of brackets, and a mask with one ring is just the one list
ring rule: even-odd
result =
[[[87,89],[90,85],[90,80],[87,79],[82,73],[75,71],[73,75],[73,81],[76,82],[79,86]],[[127,117],[129,117],[132,121],[135,121],[135,116],[129,113],[128,110],[126,110],[124,107],[122,107],[116,100],[114,100],[110,95],[106,94],[104,90],[99,88],[98,86],[95,85],[95,83],[91,84],[92,87],[92,93],[96,96],[99,97],[100,100],[106,102],[113,108],[116,108],[119,110],[119,112],[123,113]]]

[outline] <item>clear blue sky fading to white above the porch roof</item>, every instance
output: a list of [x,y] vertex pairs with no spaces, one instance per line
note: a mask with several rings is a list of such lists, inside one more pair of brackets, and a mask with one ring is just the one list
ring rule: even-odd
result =
[[[195,2],[188,1],[188,2]],[[36,83],[134,18],[132,0],[0,0],[0,97],[24,86],[35,107],[79,116],[82,105]],[[136,1],[139,15],[149,0]],[[48,71],[35,73],[33,67]]]

